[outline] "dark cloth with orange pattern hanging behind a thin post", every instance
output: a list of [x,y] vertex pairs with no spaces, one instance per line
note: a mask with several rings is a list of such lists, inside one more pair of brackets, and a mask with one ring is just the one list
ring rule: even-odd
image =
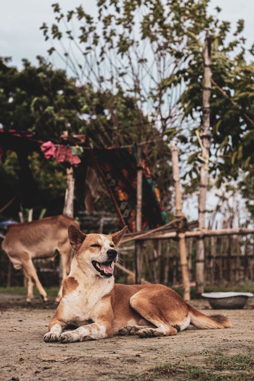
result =
[[[99,170],[122,223],[136,231],[136,146],[113,149],[94,149]],[[160,192],[151,178],[146,157],[142,160],[142,230],[153,229],[168,223],[161,204]]]

